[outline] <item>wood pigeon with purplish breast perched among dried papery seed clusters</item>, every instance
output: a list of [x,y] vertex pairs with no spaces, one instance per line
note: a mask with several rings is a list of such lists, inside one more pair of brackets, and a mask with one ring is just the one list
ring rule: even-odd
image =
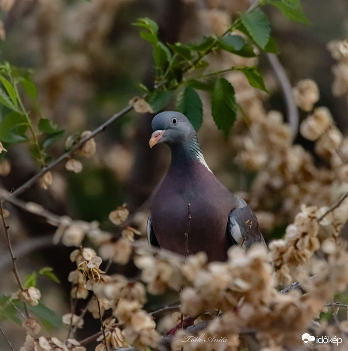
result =
[[153,197],[147,224],[150,244],[184,256],[204,251],[209,261],[225,261],[234,244],[247,249],[254,242],[265,244],[252,209],[205,163],[186,116],[159,113],[152,129],[150,147],[167,144],[171,162]]

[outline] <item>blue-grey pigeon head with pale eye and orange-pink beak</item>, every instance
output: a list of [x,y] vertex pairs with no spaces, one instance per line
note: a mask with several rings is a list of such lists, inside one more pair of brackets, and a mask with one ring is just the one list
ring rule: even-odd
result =
[[180,112],[161,112],[153,118],[151,126],[153,133],[149,142],[150,148],[159,143],[169,146],[185,144],[196,137],[192,124]]

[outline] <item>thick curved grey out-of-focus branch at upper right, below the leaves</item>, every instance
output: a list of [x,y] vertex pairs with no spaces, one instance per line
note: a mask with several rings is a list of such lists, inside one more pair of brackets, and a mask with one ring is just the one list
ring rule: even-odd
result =
[[288,121],[295,137],[298,132],[298,110],[294,101],[292,87],[289,82],[289,78],[285,73],[284,67],[279,61],[278,57],[275,54],[266,53],[268,61],[273,68],[276,79],[278,80],[284,94],[285,103],[287,107]]

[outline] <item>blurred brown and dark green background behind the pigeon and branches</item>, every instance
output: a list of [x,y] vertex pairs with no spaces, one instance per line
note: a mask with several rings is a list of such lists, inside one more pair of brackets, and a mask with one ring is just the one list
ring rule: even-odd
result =
[[[302,3],[311,26],[290,22],[275,9],[265,8],[272,36],[279,45],[279,60],[292,86],[306,78],[317,82],[320,100],[316,105],[330,110],[334,123],[345,135],[348,111],[344,82],[348,85],[348,74],[344,67],[336,67],[335,76],[333,67],[340,60],[333,57],[328,44],[348,36],[348,3],[346,0],[303,0]],[[49,154],[56,158],[62,154],[68,135],[93,130],[127,106],[133,96],[141,94],[138,83],[151,86],[151,48],[139,37],[138,28],[132,26],[137,18],[154,19],[163,41],[187,43],[212,32],[221,33],[224,25],[249,5],[246,0],[2,0],[0,60],[33,68],[41,114],[33,110],[31,118],[33,121],[50,118],[65,130],[62,140],[49,149]],[[283,91],[266,55],[241,59],[228,53],[213,53],[208,59],[212,69],[258,64],[264,76],[269,94],[249,87],[239,73],[227,76],[234,85],[237,101],[251,120],[250,126],[239,115],[228,139],[213,122],[208,95],[201,93],[204,120],[198,137],[207,164],[227,188],[249,201],[266,240],[281,237],[302,202],[324,205],[334,198],[333,176],[325,175],[333,167],[330,157],[319,157],[313,142],[299,133],[291,134],[283,123],[288,121]],[[341,89],[337,86],[338,78]],[[273,110],[279,112],[269,113]],[[299,123],[306,116],[307,113],[300,111]],[[102,228],[116,236],[118,229],[108,216],[117,206],[127,203],[133,214],[131,224],[145,234],[148,199],[169,162],[165,147],[150,150],[148,146],[151,119],[150,114],[130,112],[96,137],[96,155],[81,160],[84,167],[81,173],[67,172],[61,165],[53,170],[49,190],[37,185],[21,198],[38,202],[58,215],[99,221]],[[253,129],[260,119],[268,122]],[[275,142],[267,138],[273,132]],[[310,162],[320,170],[323,179],[327,177],[325,180],[317,183],[308,180],[301,168],[297,181],[287,180],[290,187],[285,181],[289,170],[283,170],[283,178],[272,174],[267,165],[276,163],[279,170],[282,158],[288,157],[284,150],[292,144],[301,148],[295,159],[306,159],[302,151],[308,151],[313,156]],[[3,165],[0,183],[8,191],[39,170],[25,144],[11,147],[6,160],[11,171],[4,171]],[[307,183],[301,187],[298,185],[301,181]],[[294,184],[298,185],[296,189]],[[14,206],[7,208],[11,213],[8,222],[13,244],[23,251],[18,260],[20,272],[24,276],[43,265],[54,267],[62,284],[44,281],[44,303],[59,313],[67,312],[66,277],[72,267],[66,265],[71,249],[60,245],[52,248],[50,238],[55,228]],[[10,294],[16,290],[16,283],[4,235],[0,242],[0,290],[1,294]],[[132,267],[114,269],[134,273]],[[0,323],[19,349],[25,337],[22,328],[10,322]],[[0,348],[6,349],[5,345],[0,337]]]

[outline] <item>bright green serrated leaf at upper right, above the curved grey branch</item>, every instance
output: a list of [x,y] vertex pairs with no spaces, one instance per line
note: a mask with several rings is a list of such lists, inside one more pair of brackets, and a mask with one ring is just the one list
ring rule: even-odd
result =
[[247,28],[250,37],[264,49],[269,41],[271,27],[268,17],[261,10],[253,10],[240,16],[242,24]]

